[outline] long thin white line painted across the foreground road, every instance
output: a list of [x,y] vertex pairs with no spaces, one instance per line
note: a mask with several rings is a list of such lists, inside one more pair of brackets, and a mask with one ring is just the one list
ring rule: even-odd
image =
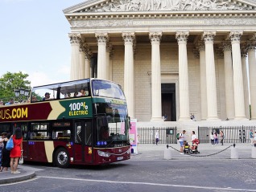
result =
[[47,177],[39,176],[38,178],[51,178],[51,179],[61,179],[61,180],[73,180],[73,181],[83,181],[83,182],[106,182],[106,183],[120,183],[120,184],[134,184],[134,185],[148,185],[148,186],[174,186],[180,188],[192,188],[192,189],[206,189],[206,190],[228,190],[228,191],[256,191],[256,190],[246,190],[246,189],[234,189],[230,187],[221,188],[221,187],[210,187],[210,186],[181,186],[181,185],[172,185],[172,184],[161,184],[161,183],[151,183],[151,182],[116,182],[109,180],[94,180],[94,179],[84,179],[84,178],[57,178],[57,177]]

